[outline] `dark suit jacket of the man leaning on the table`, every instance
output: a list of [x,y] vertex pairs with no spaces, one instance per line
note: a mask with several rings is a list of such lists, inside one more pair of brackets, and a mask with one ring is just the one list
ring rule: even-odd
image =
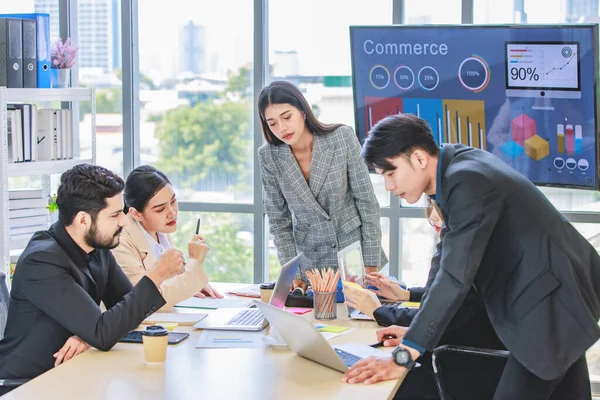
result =
[[524,176],[494,155],[442,147],[445,226],[405,340],[431,350],[474,285],[511,354],[551,380],[600,338],[600,257]]

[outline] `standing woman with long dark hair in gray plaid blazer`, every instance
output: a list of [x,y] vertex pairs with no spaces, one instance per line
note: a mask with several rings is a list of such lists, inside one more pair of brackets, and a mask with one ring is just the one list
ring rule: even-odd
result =
[[337,252],[361,242],[367,273],[381,269],[379,203],[352,128],[323,124],[294,85],[263,88],[258,112],[267,143],[258,149],[265,207],[281,264],[306,256],[303,272],[337,267]]

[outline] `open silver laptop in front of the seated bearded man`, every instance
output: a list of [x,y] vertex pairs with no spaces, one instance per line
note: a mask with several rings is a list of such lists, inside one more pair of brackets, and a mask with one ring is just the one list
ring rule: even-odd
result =
[[[298,254],[287,264],[281,267],[279,278],[275,284],[271,304],[277,308],[283,308],[287,300],[290,287],[300,267],[300,259],[303,253]],[[220,329],[231,331],[260,331],[267,326],[268,321],[257,308],[220,308],[208,314],[206,318],[199,321],[194,328],[197,329]]]

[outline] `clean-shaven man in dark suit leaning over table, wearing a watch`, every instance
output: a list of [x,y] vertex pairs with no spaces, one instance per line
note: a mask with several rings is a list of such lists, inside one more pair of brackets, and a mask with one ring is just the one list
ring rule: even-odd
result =
[[388,191],[409,203],[435,196],[445,226],[402,344],[344,379],[406,376],[473,287],[510,351],[494,399],[591,398],[585,352],[600,338],[600,257],[590,243],[517,171],[483,150],[438,148],[414,115],[379,122],[362,154]]

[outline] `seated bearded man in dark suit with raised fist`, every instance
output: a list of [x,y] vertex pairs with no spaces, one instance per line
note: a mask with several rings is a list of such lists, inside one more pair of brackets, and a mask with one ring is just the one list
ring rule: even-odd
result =
[[33,378],[87,344],[107,351],[165,304],[159,287],[184,271],[180,252],[166,252],[132,287],[109,250],[127,223],[123,188],[119,176],[98,166],[62,175],[59,221],[34,234],[17,262],[0,378]]

